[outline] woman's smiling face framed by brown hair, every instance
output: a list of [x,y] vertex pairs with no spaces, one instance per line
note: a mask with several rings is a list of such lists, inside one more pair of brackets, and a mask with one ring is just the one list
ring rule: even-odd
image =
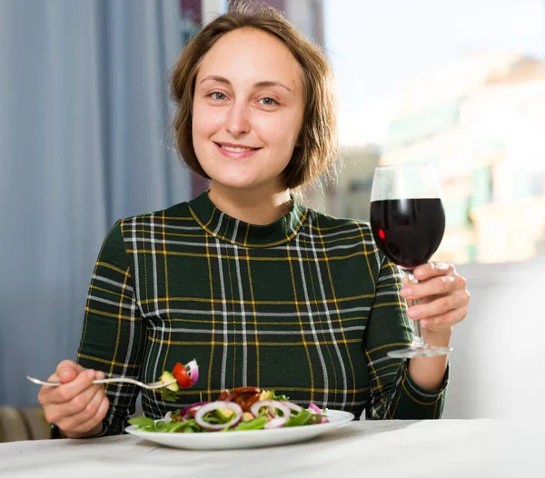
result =
[[193,148],[213,184],[282,191],[303,108],[301,67],[279,39],[223,35],[203,57],[193,100]]

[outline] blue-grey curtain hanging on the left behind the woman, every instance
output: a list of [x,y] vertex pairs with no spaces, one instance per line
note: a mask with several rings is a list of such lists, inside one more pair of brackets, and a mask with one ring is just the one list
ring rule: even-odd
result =
[[114,221],[189,199],[169,140],[178,0],[0,0],[0,404],[75,358]]

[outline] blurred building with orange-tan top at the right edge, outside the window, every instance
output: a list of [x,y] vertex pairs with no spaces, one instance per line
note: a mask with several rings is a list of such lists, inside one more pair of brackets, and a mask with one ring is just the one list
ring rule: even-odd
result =
[[545,241],[545,70],[520,60],[462,110],[474,134],[471,220],[480,262],[527,260]]

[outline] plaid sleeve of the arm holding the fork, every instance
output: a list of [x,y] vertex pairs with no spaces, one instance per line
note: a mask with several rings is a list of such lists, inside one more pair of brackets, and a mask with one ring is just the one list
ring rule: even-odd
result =
[[[145,336],[117,222],[104,239],[94,267],[77,362],[107,376],[138,379]],[[123,433],[128,416],[134,413],[139,390],[134,385],[108,383],[105,391],[110,400],[104,419],[107,434]]]

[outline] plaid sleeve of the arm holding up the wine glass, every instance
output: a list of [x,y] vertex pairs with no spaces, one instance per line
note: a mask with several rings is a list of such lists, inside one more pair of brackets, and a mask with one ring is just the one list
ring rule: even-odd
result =
[[[382,256],[383,257],[383,256]],[[445,402],[448,369],[439,390],[425,390],[411,379],[408,359],[387,353],[411,344],[412,324],[400,296],[401,274],[387,259],[380,266],[375,299],[364,348],[370,377],[368,419],[440,418]]]

